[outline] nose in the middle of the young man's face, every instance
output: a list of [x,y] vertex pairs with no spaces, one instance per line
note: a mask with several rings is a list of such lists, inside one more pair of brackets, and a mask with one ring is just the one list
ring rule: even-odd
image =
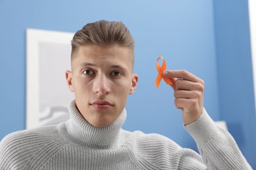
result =
[[110,84],[108,78],[104,75],[97,75],[93,82],[94,92],[99,95],[105,95],[110,93]]

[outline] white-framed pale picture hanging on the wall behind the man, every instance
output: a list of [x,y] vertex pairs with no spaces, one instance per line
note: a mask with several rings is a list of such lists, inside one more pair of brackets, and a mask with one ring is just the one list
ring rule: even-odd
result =
[[65,71],[70,70],[74,33],[26,30],[26,129],[69,118]]

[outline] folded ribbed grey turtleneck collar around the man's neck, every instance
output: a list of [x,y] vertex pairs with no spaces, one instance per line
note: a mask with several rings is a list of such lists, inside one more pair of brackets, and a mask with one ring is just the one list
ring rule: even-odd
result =
[[89,148],[103,149],[118,146],[121,126],[126,119],[125,109],[112,124],[105,127],[95,127],[89,124],[75,107],[75,101],[70,102],[68,110],[70,119],[62,124],[66,127],[60,127],[60,133],[62,131],[62,135],[68,141]]

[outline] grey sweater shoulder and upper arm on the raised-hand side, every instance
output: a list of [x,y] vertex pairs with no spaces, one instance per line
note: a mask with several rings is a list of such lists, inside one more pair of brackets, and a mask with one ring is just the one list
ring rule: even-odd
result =
[[157,134],[143,133],[142,131],[128,132],[127,143],[130,144],[135,163],[148,163],[158,169],[179,169],[187,160],[200,162],[200,156],[188,148],[182,148],[173,140]]

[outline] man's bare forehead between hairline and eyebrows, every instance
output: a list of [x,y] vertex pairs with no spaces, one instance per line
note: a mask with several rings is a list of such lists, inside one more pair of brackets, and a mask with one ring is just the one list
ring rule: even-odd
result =
[[123,46],[102,47],[97,45],[79,46],[72,54],[72,67],[77,67],[81,63],[89,62],[95,65],[119,63],[125,67],[133,69],[133,52]]

